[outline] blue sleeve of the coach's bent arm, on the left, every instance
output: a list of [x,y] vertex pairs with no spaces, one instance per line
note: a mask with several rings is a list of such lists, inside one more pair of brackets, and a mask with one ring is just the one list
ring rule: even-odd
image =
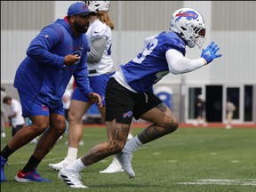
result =
[[51,52],[59,41],[61,41],[59,31],[51,27],[45,27],[29,44],[27,55],[45,65],[62,68],[64,57]]

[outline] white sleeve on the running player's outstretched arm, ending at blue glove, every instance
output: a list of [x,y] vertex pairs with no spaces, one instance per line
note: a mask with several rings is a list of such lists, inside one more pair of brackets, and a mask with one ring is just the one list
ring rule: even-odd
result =
[[175,75],[188,73],[196,70],[197,68],[203,67],[205,64],[203,58],[190,60],[175,49],[169,49],[165,52],[165,57],[168,62],[170,72]]

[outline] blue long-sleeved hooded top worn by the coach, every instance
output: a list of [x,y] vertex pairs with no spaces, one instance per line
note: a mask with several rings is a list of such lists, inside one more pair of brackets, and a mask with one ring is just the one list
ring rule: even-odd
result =
[[[76,86],[87,96],[93,92],[87,76],[88,49],[84,34],[75,36],[67,20],[56,20],[43,28],[29,44],[28,56],[16,71],[14,87],[29,98],[56,108],[62,104],[61,98],[74,76]],[[76,52],[81,59],[73,66],[64,66],[64,57]]]

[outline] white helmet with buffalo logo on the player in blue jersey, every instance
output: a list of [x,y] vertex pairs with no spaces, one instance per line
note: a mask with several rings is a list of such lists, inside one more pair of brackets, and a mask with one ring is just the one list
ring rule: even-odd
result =
[[205,41],[204,18],[200,12],[190,8],[181,8],[173,12],[170,30],[178,33],[188,43],[188,47],[201,49]]

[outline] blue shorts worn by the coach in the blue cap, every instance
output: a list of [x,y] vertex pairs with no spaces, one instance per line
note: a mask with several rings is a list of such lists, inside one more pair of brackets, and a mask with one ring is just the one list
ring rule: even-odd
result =
[[60,114],[64,116],[63,105],[60,105],[56,108],[49,108],[47,104],[42,102],[42,98],[38,95],[36,99],[29,98],[27,94],[19,92],[20,103],[22,106],[22,116],[50,116],[50,114]]

